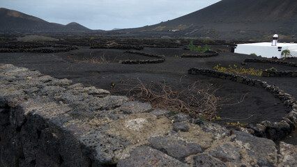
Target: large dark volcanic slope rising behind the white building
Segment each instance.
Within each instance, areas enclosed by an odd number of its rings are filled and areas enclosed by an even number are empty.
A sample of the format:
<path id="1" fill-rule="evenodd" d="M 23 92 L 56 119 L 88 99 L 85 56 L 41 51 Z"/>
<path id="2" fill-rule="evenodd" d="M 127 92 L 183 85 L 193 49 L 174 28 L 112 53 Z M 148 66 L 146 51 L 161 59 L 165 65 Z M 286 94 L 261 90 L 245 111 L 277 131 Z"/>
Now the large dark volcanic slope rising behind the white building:
<path id="1" fill-rule="evenodd" d="M 296 0 L 222 0 L 194 13 L 130 31 L 212 38 L 259 38 L 271 33 L 297 35 Z M 172 32 L 173 33 L 173 32 Z"/>

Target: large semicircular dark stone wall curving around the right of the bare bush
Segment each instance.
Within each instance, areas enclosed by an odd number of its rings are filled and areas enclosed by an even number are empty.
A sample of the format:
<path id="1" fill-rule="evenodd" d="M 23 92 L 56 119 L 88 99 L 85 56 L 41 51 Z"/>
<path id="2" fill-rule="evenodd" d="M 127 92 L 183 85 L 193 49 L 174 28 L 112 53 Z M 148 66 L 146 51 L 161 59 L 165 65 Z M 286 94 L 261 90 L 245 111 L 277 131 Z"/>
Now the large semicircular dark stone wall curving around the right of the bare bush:
<path id="1" fill-rule="evenodd" d="M 272 93 L 275 97 L 278 97 L 285 106 L 289 108 L 289 113 L 284 116 L 283 120 L 280 122 L 269 122 L 264 120 L 256 127 L 249 125 L 248 129 L 242 128 L 243 131 L 249 132 L 260 137 L 271 138 L 273 140 L 279 140 L 284 138 L 292 132 L 292 130 L 297 128 L 297 102 L 294 97 L 284 93 L 277 86 L 271 86 L 266 83 L 266 81 L 260 81 L 258 79 L 250 79 L 248 77 L 243 77 L 238 74 L 230 74 L 227 72 L 218 72 L 215 70 L 208 69 L 197 69 L 195 67 L 188 70 L 189 74 L 203 74 L 208 77 L 215 77 L 220 79 L 228 79 L 230 81 L 236 81 L 240 84 L 246 84 L 249 86 L 256 86 L 258 88 L 264 88 L 268 92 Z"/>

